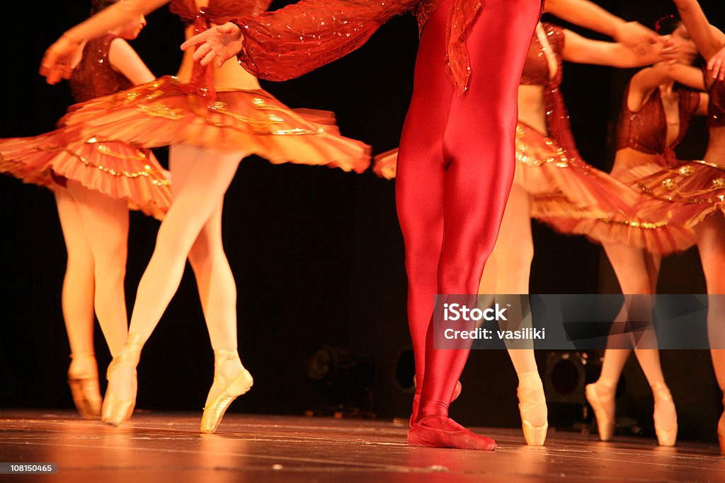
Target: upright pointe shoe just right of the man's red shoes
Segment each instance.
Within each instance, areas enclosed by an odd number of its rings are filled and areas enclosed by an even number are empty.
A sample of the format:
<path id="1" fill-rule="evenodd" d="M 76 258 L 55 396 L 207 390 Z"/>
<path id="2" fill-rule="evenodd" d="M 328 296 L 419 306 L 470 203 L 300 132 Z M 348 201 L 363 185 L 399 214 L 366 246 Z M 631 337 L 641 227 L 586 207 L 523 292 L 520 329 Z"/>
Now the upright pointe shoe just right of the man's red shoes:
<path id="1" fill-rule="evenodd" d="M 521 413 L 521 429 L 523 429 L 526 444 L 543 446 L 549 429 L 549 421 L 544 385 L 537 371 L 521 374 L 516 395 L 518 396 L 518 411 Z"/>

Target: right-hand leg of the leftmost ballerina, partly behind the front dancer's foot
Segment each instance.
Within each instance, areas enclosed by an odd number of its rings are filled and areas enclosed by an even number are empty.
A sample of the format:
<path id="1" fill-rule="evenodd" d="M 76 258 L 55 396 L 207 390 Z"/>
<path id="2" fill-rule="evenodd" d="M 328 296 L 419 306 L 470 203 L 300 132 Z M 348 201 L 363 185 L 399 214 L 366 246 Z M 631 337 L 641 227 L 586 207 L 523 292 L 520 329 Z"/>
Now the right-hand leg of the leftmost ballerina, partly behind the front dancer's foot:
<path id="1" fill-rule="evenodd" d="M 88 190 L 72 180 L 68 181 L 68 190 L 75 198 L 93 253 L 96 316 L 111 355 L 116 356 L 123 349 L 128 331 L 123 287 L 128 253 L 128 203 Z"/>

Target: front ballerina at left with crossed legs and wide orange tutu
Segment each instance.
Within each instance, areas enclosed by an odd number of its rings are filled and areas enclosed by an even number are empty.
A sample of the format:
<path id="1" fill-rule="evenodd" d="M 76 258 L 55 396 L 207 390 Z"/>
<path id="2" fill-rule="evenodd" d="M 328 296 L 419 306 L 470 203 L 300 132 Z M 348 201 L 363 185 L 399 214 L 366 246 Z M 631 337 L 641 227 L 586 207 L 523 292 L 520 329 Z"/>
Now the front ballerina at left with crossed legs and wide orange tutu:
<path id="1" fill-rule="evenodd" d="M 99 12 L 46 51 L 41 74 L 49 83 L 67 77 L 80 43 L 167 3 L 126 0 Z M 260 14 L 269 3 L 173 0 L 170 9 L 186 23 L 189 36 L 223 24 L 233 13 Z M 191 54 L 184 57 L 178 77 L 161 77 L 80 104 L 64 120 L 83 132 L 145 147 L 172 145 L 174 202 L 138 285 L 125 346 L 109 366 L 101 419 L 118 425 L 133 413 L 141 348 L 177 290 L 188 256 L 204 260 L 207 267 L 195 275 L 215 353 L 215 375 L 201 430 L 215 432 L 231 402 L 253 382 L 237 352 L 236 287 L 221 240 L 223 196 L 239 162 L 257 154 L 273 163 L 328 164 L 362 171 L 369 162 L 368 146 L 287 108 L 262 91 L 257 79 L 239 65 L 202 67 L 191 62 Z"/>

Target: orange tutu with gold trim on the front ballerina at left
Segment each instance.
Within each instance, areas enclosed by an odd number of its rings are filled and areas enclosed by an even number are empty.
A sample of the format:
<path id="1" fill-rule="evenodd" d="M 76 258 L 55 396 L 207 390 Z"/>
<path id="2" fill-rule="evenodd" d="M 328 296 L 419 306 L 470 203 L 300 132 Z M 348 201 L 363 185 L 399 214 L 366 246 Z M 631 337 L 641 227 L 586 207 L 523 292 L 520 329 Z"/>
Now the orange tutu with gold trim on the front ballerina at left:
<path id="1" fill-rule="evenodd" d="M 188 144 L 256 154 L 274 164 L 327 164 L 355 172 L 370 164 L 370 147 L 340 136 L 334 114 L 294 111 L 262 90 L 220 90 L 210 101 L 190 84 L 161 77 L 71 109 L 65 125 L 146 148 Z"/>

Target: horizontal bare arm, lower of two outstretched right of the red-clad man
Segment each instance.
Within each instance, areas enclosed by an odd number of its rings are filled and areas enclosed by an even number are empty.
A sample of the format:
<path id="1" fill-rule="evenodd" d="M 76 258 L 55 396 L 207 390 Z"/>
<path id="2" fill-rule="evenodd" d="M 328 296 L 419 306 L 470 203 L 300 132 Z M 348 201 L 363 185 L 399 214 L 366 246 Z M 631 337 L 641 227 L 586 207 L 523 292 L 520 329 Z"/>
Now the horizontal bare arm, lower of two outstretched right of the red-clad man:
<path id="1" fill-rule="evenodd" d="M 578 64 L 608 65 L 610 67 L 642 67 L 671 59 L 676 53 L 673 43 L 663 43 L 647 55 L 638 55 L 624 43 L 593 41 L 571 30 L 564 30 L 564 60 Z"/>

